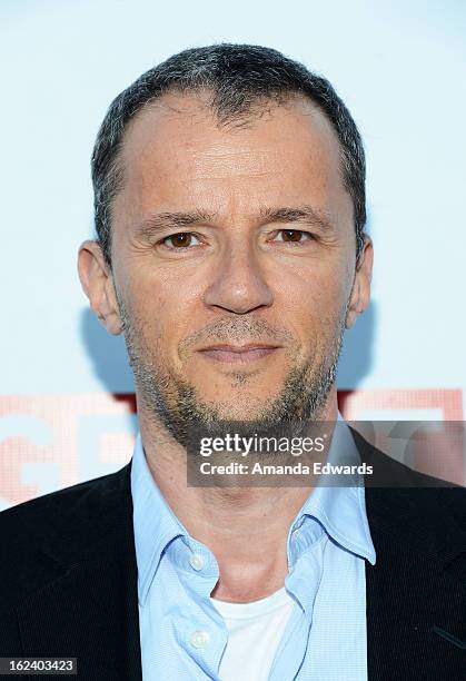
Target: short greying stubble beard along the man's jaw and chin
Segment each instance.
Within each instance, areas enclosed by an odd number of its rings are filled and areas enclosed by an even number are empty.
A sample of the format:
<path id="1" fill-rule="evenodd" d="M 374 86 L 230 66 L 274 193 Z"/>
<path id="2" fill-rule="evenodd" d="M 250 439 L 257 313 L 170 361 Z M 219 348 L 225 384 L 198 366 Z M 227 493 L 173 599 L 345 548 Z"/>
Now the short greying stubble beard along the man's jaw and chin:
<path id="1" fill-rule="evenodd" d="M 259 428 L 266 432 L 279 426 L 282 434 L 296 436 L 305 432 L 306 424 L 321 418 L 337 375 L 347 306 L 338 316 L 334 335 L 319 365 L 315 366 L 310 357 L 294 366 L 275 398 L 256 411 L 242 401 L 239 414 L 234 401 L 208 404 L 199 397 L 192 384 L 163 372 L 161 365 L 155 362 L 153 348 L 151 352 L 146 343 L 141 324 L 131 322 L 121 296 L 117 295 L 117 298 L 138 399 L 182 447 L 187 446 L 195 430 L 215 436 L 227 428 L 247 436 Z M 240 373 L 237 378 L 240 384 Z M 245 414 L 254 414 L 254 418 L 244 418 Z"/>

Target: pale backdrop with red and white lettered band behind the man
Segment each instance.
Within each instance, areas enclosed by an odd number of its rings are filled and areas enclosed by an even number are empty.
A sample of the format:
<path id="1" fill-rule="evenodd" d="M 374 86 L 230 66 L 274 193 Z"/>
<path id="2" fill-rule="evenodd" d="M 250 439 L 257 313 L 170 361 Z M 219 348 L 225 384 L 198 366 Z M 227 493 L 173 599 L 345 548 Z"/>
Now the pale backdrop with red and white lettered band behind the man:
<path id="1" fill-rule="evenodd" d="M 340 408 L 353 420 L 463 420 L 463 0 L 2 0 L 0 23 L 0 509 L 131 456 L 123 339 L 88 310 L 76 267 L 93 235 L 89 159 L 116 95 L 187 47 L 265 45 L 333 82 L 365 140 L 375 244 Z M 464 456 L 452 461 L 443 475 L 464 481 Z"/>

